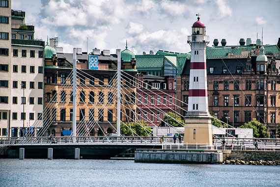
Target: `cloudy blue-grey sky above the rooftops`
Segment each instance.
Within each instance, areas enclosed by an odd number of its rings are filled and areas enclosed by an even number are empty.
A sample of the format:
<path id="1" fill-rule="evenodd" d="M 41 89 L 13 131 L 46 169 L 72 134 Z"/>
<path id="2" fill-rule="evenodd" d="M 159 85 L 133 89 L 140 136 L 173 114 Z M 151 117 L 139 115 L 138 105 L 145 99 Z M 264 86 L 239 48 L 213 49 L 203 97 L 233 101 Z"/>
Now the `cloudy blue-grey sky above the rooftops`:
<path id="1" fill-rule="evenodd" d="M 190 51 L 187 35 L 197 20 L 214 38 L 236 45 L 240 38 L 276 44 L 280 37 L 280 0 L 12 0 L 12 9 L 26 12 L 35 26 L 35 38 L 58 37 L 64 52 L 73 47 L 128 48 L 143 51 Z"/>

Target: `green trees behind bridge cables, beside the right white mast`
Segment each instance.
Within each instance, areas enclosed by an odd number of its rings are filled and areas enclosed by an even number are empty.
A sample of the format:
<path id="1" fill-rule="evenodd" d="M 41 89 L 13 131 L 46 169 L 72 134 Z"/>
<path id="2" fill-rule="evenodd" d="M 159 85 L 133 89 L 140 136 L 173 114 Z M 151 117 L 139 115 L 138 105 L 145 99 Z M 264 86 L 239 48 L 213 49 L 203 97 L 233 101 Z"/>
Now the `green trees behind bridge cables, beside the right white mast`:
<path id="1" fill-rule="evenodd" d="M 121 122 L 120 123 L 120 133 L 124 136 L 134 136 L 138 134 L 139 136 L 149 136 L 152 133 L 152 130 L 147 123 L 140 122 Z"/>

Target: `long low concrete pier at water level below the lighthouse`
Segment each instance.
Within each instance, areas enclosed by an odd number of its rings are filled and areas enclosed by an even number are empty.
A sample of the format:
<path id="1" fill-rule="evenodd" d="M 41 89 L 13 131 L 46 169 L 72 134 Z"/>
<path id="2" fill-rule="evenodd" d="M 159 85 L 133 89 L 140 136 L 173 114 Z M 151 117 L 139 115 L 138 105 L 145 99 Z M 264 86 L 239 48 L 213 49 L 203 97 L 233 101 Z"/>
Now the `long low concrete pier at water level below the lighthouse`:
<path id="1" fill-rule="evenodd" d="M 223 162 L 223 153 L 209 150 L 137 150 L 135 162 L 220 163 Z"/>

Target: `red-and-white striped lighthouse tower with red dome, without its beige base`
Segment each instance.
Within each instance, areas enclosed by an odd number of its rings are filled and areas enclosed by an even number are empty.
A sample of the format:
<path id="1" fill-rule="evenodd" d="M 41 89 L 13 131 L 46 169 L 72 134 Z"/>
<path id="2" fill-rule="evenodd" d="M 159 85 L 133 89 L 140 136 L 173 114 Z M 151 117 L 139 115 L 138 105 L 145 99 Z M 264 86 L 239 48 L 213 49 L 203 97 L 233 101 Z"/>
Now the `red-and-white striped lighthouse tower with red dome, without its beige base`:
<path id="1" fill-rule="evenodd" d="M 192 51 L 188 116 L 192 115 L 191 113 L 209 115 L 206 74 L 206 46 L 209 43 L 209 36 L 206 35 L 206 27 L 199 19 L 197 17 L 192 27 L 192 35 L 188 36 Z"/>

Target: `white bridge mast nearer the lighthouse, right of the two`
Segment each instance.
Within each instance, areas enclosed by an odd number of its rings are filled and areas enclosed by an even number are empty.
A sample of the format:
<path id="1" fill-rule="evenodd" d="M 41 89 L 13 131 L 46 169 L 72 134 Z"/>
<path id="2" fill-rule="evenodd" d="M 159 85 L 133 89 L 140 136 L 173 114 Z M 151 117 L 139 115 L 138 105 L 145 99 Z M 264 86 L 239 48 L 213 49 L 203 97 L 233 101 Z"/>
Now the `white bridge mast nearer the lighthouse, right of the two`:
<path id="1" fill-rule="evenodd" d="M 120 136 L 120 86 L 121 86 L 121 59 L 120 59 L 120 49 L 116 50 L 117 55 L 117 136 Z"/>

